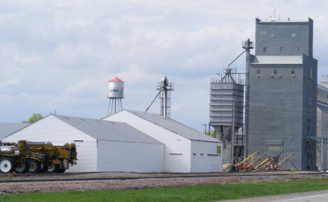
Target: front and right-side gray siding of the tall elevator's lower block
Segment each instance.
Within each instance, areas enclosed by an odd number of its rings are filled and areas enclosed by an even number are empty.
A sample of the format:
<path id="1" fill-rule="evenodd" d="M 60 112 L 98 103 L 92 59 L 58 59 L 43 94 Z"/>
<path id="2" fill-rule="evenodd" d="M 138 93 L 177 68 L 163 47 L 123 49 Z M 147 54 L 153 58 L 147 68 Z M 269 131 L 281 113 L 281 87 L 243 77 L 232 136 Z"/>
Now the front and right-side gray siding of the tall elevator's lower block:
<path id="1" fill-rule="evenodd" d="M 295 153 L 288 161 L 292 170 L 315 168 L 315 145 L 310 145 L 314 157 L 308 161 L 306 137 L 315 136 L 317 63 L 308 56 L 304 58 L 303 65 L 261 64 L 250 68 L 248 154 L 268 152 L 266 140 L 282 140 L 280 158 Z M 257 69 L 261 69 L 259 74 Z"/>

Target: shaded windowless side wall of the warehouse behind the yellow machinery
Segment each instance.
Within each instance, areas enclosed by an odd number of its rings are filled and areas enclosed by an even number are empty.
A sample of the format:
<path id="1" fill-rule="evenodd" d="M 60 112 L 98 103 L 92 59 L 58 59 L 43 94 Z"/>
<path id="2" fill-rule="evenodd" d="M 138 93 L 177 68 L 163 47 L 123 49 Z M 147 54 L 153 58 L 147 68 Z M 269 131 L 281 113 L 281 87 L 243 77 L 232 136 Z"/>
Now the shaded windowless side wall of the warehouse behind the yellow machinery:
<path id="1" fill-rule="evenodd" d="M 164 144 L 98 140 L 97 148 L 97 171 L 164 171 Z"/>

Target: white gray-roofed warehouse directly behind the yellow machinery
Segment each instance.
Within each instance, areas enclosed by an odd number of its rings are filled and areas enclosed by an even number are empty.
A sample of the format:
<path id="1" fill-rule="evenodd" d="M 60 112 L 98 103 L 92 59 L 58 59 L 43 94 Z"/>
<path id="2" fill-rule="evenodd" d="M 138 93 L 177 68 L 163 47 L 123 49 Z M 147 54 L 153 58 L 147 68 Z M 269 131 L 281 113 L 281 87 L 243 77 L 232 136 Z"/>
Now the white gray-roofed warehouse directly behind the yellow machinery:
<path id="1" fill-rule="evenodd" d="M 164 144 L 126 123 L 49 115 L 4 141 L 75 142 L 76 166 L 67 172 L 163 172 Z"/>

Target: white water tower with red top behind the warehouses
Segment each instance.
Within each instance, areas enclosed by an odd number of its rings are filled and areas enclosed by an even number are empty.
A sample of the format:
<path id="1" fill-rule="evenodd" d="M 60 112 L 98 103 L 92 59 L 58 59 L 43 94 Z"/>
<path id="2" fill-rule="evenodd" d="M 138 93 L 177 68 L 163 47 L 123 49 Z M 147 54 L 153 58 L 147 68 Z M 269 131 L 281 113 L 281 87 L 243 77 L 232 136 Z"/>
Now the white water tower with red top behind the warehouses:
<path id="1" fill-rule="evenodd" d="M 124 90 L 124 81 L 115 77 L 108 81 L 108 94 L 109 105 L 108 105 L 108 115 L 116 113 L 122 110 L 122 98 Z M 111 109 L 109 113 L 109 109 Z"/>

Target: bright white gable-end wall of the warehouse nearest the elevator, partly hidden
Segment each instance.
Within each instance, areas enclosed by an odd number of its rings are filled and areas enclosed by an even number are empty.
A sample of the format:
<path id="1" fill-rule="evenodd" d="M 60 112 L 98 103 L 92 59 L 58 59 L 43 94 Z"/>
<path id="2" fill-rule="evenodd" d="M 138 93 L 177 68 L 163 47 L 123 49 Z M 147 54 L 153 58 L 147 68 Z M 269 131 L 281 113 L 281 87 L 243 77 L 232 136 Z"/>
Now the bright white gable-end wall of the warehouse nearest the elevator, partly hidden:
<path id="1" fill-rule="evenodd" d="M 121 111 L 105 118 L 107 121 L 128 123 L 143 133 L 165 144 L 164 171 L 170 173 L 191 172 L 191 141 L 172 133 L 156 124 L 139 118 L 129 112 Z"/>

